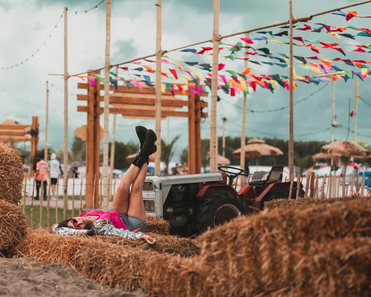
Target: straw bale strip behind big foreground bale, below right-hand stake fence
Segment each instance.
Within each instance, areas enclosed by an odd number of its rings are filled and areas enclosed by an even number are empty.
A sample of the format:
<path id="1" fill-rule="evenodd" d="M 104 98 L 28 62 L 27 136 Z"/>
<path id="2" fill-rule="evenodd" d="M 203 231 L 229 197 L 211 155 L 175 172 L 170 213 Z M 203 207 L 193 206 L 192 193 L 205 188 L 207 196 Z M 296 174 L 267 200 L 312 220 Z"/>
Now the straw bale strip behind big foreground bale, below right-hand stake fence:
<path id="1" fill-rule="evenodd" d="M 274 199 L 271 201 L 264 202 L 264 210 L 272 211 L 273 209 L 292 207 L 294 205 L 317 205 L 324 203 L 334 203 L 339 201 L 349 201 L 349 200 L 370 200 L 367 197 L 360 197 L 357 195 L 338 197 L 338 198 L 316 198 L 316 197 L 298 197 L 297 199 Z"/>

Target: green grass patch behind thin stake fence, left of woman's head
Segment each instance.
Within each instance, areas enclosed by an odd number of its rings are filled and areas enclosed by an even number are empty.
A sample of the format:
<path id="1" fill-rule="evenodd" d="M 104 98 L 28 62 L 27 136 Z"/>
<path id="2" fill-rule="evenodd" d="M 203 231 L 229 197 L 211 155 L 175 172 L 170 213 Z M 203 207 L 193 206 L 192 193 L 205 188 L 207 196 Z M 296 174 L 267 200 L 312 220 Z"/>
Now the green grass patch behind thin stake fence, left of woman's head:
<path id="1" fill-rule="evenodd" d="M 80 200 L 80 199 L 79 199 Z M 23 205 L 21 205 L 21 208 L 23 208 Z M 83 210 L 84 212 L 84 210 Z M 26 219 L 28 221 L 28 226 L 31 227 L 31 205 L 26 205 Z M 49 215 L 50 215 L 50 226 L 57 223 L 56 217 L 55 217 L 55 208 L 49 207 Z M 79 208 L 75 208 L 74 212 L 75 216 L 79 215 Z M 72 210 L 68 209 L 66 218 L 69 218 L 72 216 Z M 32 221 L 33 221 L 33 228 L 37 229 L 39 228 L 40 224 L 40 205 L 34 205 L 33 206 L 33 213 L 32 213 Z M 63 208 L 58 208 L 58 223 L 63 221 Z M 46 206 L 43 206 L 43 228 L 47 228 L 47 212 L 46 212 Z"/>

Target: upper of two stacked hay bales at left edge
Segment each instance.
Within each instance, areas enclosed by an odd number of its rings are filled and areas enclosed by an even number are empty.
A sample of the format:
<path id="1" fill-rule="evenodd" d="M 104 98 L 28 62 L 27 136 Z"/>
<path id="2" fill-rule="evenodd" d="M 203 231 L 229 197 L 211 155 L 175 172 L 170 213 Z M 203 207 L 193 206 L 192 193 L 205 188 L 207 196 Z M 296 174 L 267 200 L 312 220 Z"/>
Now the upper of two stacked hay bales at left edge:
<path id="1" fill-rule="evenodd" d="M 21 152 L 0 142 L 0 199 L 18 205 L 22 198 Z"/>

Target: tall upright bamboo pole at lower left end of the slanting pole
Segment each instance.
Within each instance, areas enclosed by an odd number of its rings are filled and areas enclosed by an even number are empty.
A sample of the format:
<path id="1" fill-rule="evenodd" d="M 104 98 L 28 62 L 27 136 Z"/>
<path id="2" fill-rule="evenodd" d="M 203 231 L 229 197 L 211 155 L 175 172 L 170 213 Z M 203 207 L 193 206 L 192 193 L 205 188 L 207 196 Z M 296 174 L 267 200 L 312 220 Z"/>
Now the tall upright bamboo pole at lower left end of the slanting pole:
<path id="1" fill-rule="evenodd" d="M 63 143 L 63 172 L 68 173 L 68 71 L 67 71 L 67 7 L 65 7 L 65 126 Z M 64 208 L 64 206 L 63 206 Z M 66 218 L 64 218 L 66 219 Z"/>

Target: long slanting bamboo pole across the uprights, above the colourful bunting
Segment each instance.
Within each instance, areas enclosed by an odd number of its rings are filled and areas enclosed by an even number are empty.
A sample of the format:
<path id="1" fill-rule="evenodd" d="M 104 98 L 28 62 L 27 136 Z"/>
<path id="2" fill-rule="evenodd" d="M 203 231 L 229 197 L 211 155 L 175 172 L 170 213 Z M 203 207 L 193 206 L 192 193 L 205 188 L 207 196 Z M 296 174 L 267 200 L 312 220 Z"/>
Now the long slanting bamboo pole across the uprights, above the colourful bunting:
<path id="1" fill-rule="evenodd" d="M 349 7 L 354 7 L 354 6 L 358 6 L 358 5 L 362 5 L 362 4 L 366 4 L 366 3 L 370 3 L 370 2 L 371 2 L 371 0 L 367 0 L 367 1 L 359 2 L 359 3 L 354 3 L 354 4 L 349 4 L 349 5 L 346 5 L 346 6 L 338 7 L 338 8 L 335 8 L 335 9 L 326 10 L 324 12 L 319 12 L 319 13 L 311 14 L 309 16 L 295 17 L 295 21 L 296 22 L 306 22 L 308 20 L 311 20 L 315 16 L 320 16 L 320 15 L 323 15 L 323 14 L 326 14 L 326 13 L 336 12 L 337 10 L 346 9 L 346 8 L 349 8 Z M 258 30 L 263 30 L 263 29 L 267 29 L 267 28 L 271 28 L 271 27 L 287 25 L 289 22 L 290 22 L 289 20 L 286 20 L 286 21 L 282 21 L 282 22 L 277 22 L 277 23 L 273 23 L 273 24 L 259 26 L 259 27 L 255 27 L 255 28 L 252 28 L 252 29 L 240 31 L 240 32 L 237 32 L 237 33 L 232 33 L 232 34 L 221 36 L 221 39 L 226 38 L 226 37 L 235 36 L 235 35 L 242 35 L 242 34 L 246 34 L 246 33 L 249 33 L 249 32 L 258 31 Z M 193 43 L 193 44 L 190 44 L 190 45 L 181 46 L 180 48 L 166 50 L 165 52 L 167 52 L 167 53 L 168 52 L 174 52 L 175 50 L 183 49 L 183 48 L 190 47 L 190 46 L 199 45 L 201 43 L 212 42 L 212 41 L 213 41 L 213 39 L 204 40 L 204 41 Z M 116 66 L 120 66 L 122 64 L 127 64 L 127 63 L 131 63 L 131 62 L 135 62 L 135 61 L 138 61 L 138 60 L 141 60 L 141 59 L 151 58 L 151 57 L 153 57 L 155 55 L 156 54 L 152 54 L 152 55 L 147 55 L 147 56 L 143 56 L 143 57 L 140 57 L 140 58 L 131 59 L 129 61 L 125 61 L 125 62 L 121 62 L 121 63 L 118 63 L 118 64 L 114 64 L 114 65 L 112 65 L 112 67 L 116 67 Z M 99 68 L 99 69 L 95 69 L 95 70 L 91 70 L 89 72 L 95 72 L 95 71 L 99 71 L 99 70 L 102 70 L 102 69 L 104 69 L 104 67 Z M 77 73 L 77 74 L 74 74 L 74 75 L 81 75 L 81 74 L 85 74 L 85 73 L 86 72 L 81 72 L 81 73 Z M 50 74 L 50 75 L 60 75 L 60 74 Z"/>

